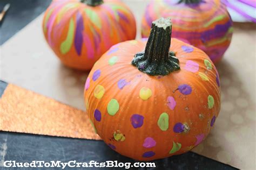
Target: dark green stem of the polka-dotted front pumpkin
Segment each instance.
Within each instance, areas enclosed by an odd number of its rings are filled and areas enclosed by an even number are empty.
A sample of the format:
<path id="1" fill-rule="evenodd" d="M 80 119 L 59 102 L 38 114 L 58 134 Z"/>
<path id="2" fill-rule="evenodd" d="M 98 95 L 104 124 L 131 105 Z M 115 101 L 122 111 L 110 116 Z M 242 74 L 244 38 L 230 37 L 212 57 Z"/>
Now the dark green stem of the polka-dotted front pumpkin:
<path id="1" fill-rule="evenodd" d="M 149 75 L 168 75 L 180 69 L 179 60 L 169 51 L 171 32 L 170 18 L 154 20 L 145 52 L 135 54 L 132 65 Z"/>

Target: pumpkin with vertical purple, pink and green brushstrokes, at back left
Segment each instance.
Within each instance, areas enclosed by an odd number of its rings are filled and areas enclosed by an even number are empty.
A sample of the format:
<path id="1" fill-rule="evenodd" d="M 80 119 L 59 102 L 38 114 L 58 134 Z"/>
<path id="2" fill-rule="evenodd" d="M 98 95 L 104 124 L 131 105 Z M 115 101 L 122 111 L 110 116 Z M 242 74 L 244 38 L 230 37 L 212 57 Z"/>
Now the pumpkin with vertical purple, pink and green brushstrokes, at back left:
<path id="1" fill-rule="evenodd" d="M 45 12 L 43 32 L 64 65 L 89 70 L 112 45 L 134 39 L 136 23 L 119 0 L 57 0 Z"/>

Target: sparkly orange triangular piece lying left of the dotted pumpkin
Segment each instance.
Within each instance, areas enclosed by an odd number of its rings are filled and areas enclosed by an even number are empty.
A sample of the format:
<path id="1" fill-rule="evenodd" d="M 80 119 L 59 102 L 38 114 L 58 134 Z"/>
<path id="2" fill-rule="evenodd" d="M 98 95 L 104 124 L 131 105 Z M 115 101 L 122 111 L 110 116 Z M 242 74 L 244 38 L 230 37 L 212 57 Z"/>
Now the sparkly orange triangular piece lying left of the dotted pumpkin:
<path id="1" fill-rule="evenodd" d="M 85 112 L 13 84 L 0 98 L 0 130 L 100 140 Z"/>

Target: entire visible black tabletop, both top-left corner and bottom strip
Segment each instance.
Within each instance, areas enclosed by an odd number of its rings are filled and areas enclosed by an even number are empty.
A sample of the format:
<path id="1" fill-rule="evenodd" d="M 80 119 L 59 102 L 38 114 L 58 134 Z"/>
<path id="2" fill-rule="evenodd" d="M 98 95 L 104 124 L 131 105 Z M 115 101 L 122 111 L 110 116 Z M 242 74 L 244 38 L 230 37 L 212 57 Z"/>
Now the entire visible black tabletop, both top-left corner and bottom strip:
<path id="1" fill-rule="evenodd" d="M 41 14 L 49 5 L 50 0 L 0 0 L 0 8 L 2 9 L 3 5 L 8 2 L 11 3 L 11 8 L 2 25 L 0 44 Z M 0 97 L 6 86 L 7 83 L 0 81 Z M 3 153 L 3 147 L 1 147 L 3 145 L 7 146 L 6 151 L 4 151 L 6 152 L 4 160 L 16 160 L 17 162 L 32 160 L 77 160 L 81 162 L 118 160 L 119 162 L 134 162 L 134 160 L 123 157 L 111 150 L 103 141 L 0 131 L 0 153 Z M 2 159 L 0 154 L 0 162 Z M 157 168 L 153 169 L 235 169 L 192 152 L 154 162 L 156 162 Z"/>

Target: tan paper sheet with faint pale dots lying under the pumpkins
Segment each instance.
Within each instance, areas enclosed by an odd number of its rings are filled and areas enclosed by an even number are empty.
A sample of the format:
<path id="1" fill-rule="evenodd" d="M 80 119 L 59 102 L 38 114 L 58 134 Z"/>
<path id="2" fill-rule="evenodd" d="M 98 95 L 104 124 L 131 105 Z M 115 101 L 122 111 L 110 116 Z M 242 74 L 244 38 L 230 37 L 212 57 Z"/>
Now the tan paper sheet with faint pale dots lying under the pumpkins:
<path id="1" fill-rule="evenodd" d="M 139 3 L 129 4 L 137 27 L 146 4 Z M 42 15 L 2 46 L 0 79 L 84 110 L 88 73 L 59 62 L 44 40 L 41 24 Z M 255 168 L 256 31 L 250 27 L 234 28 L 231 46 L 217 65 L 222 91 L 219 117 L 208 138 L 193 150 L 242 169 Z"/>

